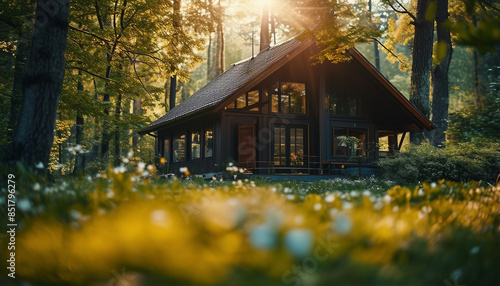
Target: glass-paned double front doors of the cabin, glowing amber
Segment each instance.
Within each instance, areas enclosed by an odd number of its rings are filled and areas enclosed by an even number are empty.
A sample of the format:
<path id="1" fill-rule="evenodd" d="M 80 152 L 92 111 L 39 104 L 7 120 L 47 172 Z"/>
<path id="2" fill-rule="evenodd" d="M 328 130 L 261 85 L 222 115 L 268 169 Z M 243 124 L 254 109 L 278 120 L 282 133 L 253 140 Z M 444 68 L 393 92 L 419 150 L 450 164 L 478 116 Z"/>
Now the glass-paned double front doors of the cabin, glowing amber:
<path id="1" fill-rule="evenodd" d="M 307 126 L 273 126 L 272 145 L 276 173 L 307 173 Z"/>

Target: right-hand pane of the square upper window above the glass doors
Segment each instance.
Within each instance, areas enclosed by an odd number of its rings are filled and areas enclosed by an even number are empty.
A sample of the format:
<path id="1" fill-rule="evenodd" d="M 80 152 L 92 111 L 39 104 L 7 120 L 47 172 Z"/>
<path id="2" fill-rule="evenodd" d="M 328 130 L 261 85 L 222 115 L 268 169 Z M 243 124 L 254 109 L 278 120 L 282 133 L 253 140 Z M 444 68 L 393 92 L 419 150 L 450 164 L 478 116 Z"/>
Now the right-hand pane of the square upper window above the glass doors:
<path id="1" fill-rule="evenodd" d="M 304 83 L 282 83 L 281 96 L 282 99 L 286 97 L 286 100 L 282 100 L 282 103 L 286 104 L 286 110 L 282 109 L 282 113 L 306 114 L 306 85 Z"/>

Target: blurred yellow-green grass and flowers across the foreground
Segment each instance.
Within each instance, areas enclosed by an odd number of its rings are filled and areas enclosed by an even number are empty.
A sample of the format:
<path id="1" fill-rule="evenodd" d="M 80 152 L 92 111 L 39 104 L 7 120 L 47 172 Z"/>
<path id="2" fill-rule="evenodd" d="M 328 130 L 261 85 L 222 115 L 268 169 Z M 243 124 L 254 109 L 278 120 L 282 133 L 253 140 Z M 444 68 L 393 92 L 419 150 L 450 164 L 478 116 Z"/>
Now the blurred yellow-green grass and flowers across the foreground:
<path id="1" fill-rule="evenodd" d="M 499 185 L 123 169 L 18 184 L 16 278 L 2 267 L 2 285 L 500 285 Z"/>

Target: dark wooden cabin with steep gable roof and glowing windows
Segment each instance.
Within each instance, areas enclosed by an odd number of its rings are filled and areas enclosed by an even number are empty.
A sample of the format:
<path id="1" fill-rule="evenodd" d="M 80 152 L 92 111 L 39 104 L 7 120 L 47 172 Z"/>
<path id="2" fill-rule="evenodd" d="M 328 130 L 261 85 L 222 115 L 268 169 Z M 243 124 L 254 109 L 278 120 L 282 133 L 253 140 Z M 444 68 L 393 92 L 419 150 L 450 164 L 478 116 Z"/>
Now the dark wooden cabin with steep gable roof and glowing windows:
<path id="1" fill-rule="evenodd" d="M 296 38 L 267 48 L 140 134 L 156 137 L 174 172 L 220 172 L 233 161 L 254 174 L 331 174 L 370 166 L 406 132 L 434 128 L 356 49 L 348 62 L 312 65 L 317 51 Z"/>

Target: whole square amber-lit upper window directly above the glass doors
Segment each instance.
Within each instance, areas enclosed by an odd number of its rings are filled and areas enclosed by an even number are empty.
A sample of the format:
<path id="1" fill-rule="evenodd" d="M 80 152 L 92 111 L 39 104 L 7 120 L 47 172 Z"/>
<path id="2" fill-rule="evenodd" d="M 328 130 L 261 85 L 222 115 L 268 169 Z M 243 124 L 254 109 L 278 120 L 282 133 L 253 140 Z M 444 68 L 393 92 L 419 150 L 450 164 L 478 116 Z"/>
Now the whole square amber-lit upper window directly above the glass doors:
<path id="1" fill-rule="evenodd" d="M 306 114 L 306 85 L 279 82 L 271 88 L 271 106 L 274 113 Z"/>

